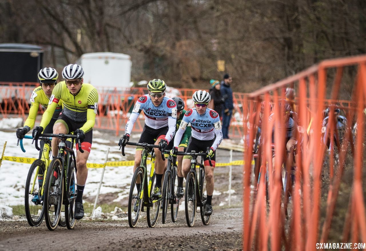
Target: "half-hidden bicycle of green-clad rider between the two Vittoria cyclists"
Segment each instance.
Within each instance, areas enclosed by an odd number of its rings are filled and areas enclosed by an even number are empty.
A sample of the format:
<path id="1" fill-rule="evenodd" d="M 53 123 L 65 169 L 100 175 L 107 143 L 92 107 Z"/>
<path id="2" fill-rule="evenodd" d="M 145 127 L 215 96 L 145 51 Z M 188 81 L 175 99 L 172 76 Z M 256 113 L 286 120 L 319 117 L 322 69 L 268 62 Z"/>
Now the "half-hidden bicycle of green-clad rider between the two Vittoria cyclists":
<path id="1" fill-rule="evenodd" d="M 163 193 L 162 193 L 162 200 L 163 200 L 163 212 L 162 212 L 162 221 L 163 224 L 167 221 L 167 214 L 168 214 L 168 205 L 170 204 L 171 208 L 171 216 L 172 222 L 177 221 L 178 217 L 178 209 L 179 209 L 179 202 L 180 199 L 175 192 L 178 187 L 178 178 L 177 178 L 177 156 L 169 155 L 168 156 L 168 166 L 167 170 L 164 174 L 164 185 L 163 185 Z"/>

